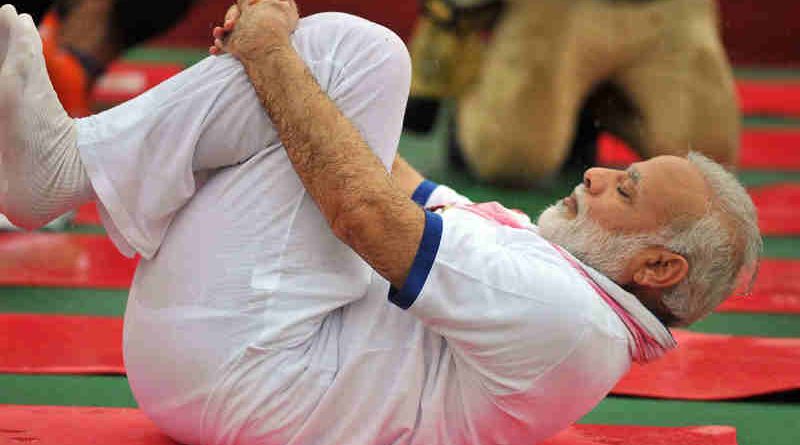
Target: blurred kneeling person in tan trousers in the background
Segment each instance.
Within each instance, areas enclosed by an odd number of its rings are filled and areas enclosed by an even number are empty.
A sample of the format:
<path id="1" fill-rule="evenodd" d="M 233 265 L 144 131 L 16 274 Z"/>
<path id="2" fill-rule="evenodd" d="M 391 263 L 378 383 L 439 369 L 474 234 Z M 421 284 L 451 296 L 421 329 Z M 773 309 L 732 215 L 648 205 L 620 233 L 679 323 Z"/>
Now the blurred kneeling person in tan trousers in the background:
<path id="1" fill-rule="evenodd" d="M 605 130 L 645 158 L 696 150 L 727 166 L 740 114 L 714 0 L 423 0 L 406 128 L 454 99 L 450 157 L 529 185 Z M 577 130 L 576 130 L 577 129 Z"/>

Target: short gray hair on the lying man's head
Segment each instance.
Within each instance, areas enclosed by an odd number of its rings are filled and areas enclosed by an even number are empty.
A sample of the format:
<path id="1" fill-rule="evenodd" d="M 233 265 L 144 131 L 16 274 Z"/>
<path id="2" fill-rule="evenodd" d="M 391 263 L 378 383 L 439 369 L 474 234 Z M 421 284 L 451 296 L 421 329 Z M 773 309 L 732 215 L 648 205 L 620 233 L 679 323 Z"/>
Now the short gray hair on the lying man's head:
<path id="1" fill-rule="evenodd" d="M 689 263 L 687 276 L 662 299 L 683 326 L 713 311 L 740 278 L 747 280 L 749 290 L 763 248 L 755 206 L 736 177 L 699 153 L 686 158 L 703 175 L 711 199 L 700 219 L 677 218 L 665 227 L 665 247 Z"/>

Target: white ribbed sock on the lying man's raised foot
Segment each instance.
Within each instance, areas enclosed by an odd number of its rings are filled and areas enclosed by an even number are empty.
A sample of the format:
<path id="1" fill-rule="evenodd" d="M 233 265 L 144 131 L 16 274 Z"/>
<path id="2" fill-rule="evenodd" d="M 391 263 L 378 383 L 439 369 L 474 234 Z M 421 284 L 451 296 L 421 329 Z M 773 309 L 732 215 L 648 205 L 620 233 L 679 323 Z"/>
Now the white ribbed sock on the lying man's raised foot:
<path id="1" fill-rule="evenodd" d="M 94 193 L 76 146 L 75 123 L 47 75 L 36 25 L 5 5 L 0 39 L 6 35 L 0 67 L 0 212 L 33 229 Z"/>

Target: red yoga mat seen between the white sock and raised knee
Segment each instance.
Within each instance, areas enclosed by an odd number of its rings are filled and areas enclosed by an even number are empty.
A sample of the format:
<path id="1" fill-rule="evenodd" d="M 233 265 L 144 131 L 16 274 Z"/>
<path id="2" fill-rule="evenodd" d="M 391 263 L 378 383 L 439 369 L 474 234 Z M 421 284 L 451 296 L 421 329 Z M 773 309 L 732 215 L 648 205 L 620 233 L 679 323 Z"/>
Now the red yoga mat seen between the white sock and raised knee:
<path id="1" fill-rule="evenodd" d="M 178 74 L 183 68 L 171 63 L 114 62 L 98 79 L 91 101 L 106 105 L 124 102 Z"/>

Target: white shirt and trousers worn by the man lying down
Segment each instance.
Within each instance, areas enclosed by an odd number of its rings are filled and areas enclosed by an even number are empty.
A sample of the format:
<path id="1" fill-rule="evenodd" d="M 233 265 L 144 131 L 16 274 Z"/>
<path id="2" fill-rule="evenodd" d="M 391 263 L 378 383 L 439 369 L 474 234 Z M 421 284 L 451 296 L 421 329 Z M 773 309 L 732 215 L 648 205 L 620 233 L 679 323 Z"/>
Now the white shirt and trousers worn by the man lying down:
<path id="1" fill-rule="evenodd" d="M 388 168 L 409 86 L 402 42 L 343 14 L 303 19 L 293 42 Z M 125 314 L 131 388 L 179 442 L 532 444 L 628 369 L 625 326 L 549 243 L 469 212 L 427 214 L 392 292 L 409 309 L 390 304 L 230 57 L 78 133 L 107 229 L 144 257 Z M 426 186 L 421 202 L 452 199 Z"/>

